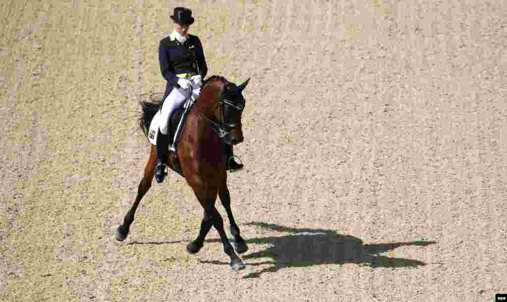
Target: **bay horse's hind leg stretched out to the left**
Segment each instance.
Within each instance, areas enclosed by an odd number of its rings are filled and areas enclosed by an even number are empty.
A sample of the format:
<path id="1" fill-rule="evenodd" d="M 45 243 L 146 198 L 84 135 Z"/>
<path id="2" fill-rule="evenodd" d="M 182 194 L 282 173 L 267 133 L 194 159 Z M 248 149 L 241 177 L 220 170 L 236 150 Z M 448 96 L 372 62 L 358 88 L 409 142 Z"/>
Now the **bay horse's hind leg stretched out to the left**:
<path id="1" fill-rule="evenodd" d="M 137 210 L 137 206 L 139 205 L 144 194 L 146 194 L 146 192 L 148 192 L 152 186 L 153 176 L 155 175 L 156 160 L 157 153 L 154 146 L 152 145 L 150 159 L 148 160 L 146 168 L 144 168 L 144 176 L 142 177 L 142 180 L 139 183 L 139 187 L 137 188 L 137 196 L 135 197 L 134 204 L 128 211 L 127 215 L 125 215 L 123 223 L 120 224 L 116 230 L 115 237 L 118 241 L 123 241 L 127 238 L 128 232 L 130 230 L 130 224 L 132 224 L 134 221 L 135 210 Z"/>

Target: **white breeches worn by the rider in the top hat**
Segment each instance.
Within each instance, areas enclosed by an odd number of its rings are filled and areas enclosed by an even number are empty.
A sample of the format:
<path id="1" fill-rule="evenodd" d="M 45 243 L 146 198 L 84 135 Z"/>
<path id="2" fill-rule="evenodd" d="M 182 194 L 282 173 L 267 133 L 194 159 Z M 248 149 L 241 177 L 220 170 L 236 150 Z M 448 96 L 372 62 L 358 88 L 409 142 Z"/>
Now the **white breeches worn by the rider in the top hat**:
<path id="1" fill-rule="evenodd" d="M 200 94 L 201 88 L 193 82 L 192 86 L 187 89 L 174 87 L 171 90 L 171 93 L 169 93 L 169 95 L 165 98 L 164 104 L 162 105 L 162 112 L 160 112 L 161 119 L 159 123 L 160 132 L 167 134 L 169 117 L 177 107 L 181 106 L 191 96 L 194 99 L 197 99 Z"/>

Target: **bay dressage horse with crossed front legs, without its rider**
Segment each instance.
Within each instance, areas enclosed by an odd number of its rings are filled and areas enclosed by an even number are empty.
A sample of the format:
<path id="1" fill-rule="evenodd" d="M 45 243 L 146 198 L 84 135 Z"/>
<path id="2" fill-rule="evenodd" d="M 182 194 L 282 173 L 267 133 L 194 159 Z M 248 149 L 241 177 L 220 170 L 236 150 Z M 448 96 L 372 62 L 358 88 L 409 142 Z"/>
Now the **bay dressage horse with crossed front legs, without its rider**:
<path id="1" fill-rule="evenodd" d="M 176 154 L 168 150 L 168 167 L 174 172 L 175 156 L 179 159 L 180 172 L 204 209 L 199 235 L 187 245 L 187 252 L 195 254 L 204 245 L 204 239 L 214 226 L 220 235 L 224 252 L 230 257 L 233 270 L 245 268 L 236 254 L 248 250 L 245 240 L 231 211 L 231 197 L 227 187 L 227 160 L 224 156 L 224 144 L 235 145 L 243 141 L 241 115 L 245 106 L 243 90 L 250 79 L 237 86 L 224 77 L 213 75 L 204 81 L 201 95 L 188 108 L 185 124 L 179 133 Z M 161 106 L 159 102 L 141 101 L 142 115 L 139 127 L 148 137 L 150 123 Z M 115 237 L 118 241 L 127 238 L 134 214 L 142 197 L 148 192 L 155 175 L 157 148 L 151 145 L 150 158 L 144 168 L 144 175 L 137 189 L 137 196 L 130 210 L 118 226 Z M 177 162 L 177 161 L 176 161 Z M 224 206 L 230 223 L 232 238 L 229 240 L 224 231 L 222 216 L 215 208 L 217 195 Z M 231 245 L 234 244 L 234 248 Z M 236 252 L 235 252 L 236 250 Z"/>

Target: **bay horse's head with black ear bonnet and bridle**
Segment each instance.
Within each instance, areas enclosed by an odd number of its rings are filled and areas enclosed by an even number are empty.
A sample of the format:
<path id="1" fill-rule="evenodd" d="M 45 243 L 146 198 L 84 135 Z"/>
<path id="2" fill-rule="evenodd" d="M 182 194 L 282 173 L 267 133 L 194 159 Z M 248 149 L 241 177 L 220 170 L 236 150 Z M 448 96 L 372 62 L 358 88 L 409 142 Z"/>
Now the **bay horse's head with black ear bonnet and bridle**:
<path id="1" fill-rule="evenodd" d="M 235 145 L 243 141 L 241 129 L 241 114 L 245 108 L 243 90 L 248 81 L 239 86 L 220 78 L 222 85 L 218 95 L 218 102 L 213 106 L 213 119 L 219 121 L 222 127 L 222 135 L 226 143 Z"/>

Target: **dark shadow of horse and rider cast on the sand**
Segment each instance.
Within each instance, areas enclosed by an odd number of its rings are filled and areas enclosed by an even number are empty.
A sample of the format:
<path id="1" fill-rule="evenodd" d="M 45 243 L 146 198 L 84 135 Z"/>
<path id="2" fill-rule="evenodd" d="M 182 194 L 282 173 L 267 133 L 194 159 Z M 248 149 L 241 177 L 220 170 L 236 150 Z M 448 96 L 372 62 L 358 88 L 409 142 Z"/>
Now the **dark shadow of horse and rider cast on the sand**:
<path id="1" fill-rule="evenodd" d="M 427 246 L 436 243 L 435 241 L 412 241 L 364 244 L 363 240 L 359 238 L 340 235 L 332 230 L 295 229 L 265 222 L 249 222 L 243 225 L 253 225 L 261 229 L 287 233 L 281 237 L 270 236 L 246 239 L 248 244 L 270 245 L 259 252 L 242 255 L 243 259 L 270 258 L 268 261 L 247 263 L 247 266 L 263 266 L 266 264 L 271 266 L 258 272 L 247 274 L 243 278 L 257 278 L 263 273 L 276 272 L 289 267 L 310 267 L 325 264 L 342 265 L 345 263 L 356 263 L 357 265 L 372 268 L 416 268 L 424 266 L 426 263 L 414 259 L 388 257 L 380 254 L 400 246 Z M 170 244 L 179 242 L 132 242 L 130 244 Z M 212 239 L 206 240 L 206 242 L 220 242 L 220 240 Z M 228 262 L 222 261 L 201 260 L 200 262 L 229 265 Z"/>

